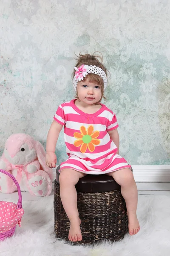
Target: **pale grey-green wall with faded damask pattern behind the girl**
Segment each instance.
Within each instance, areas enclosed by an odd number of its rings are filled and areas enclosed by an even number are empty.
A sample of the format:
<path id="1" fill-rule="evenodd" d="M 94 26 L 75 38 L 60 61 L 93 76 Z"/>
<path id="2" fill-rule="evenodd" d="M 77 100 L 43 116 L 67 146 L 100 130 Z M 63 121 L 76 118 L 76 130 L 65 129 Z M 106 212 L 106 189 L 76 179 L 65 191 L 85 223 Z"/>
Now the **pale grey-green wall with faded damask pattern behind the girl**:
<path id="1" fill-rule="evenodd" d="M 111 73 L 104 103 L 119 121 L 120 154 L 170 164 L 167 0 L 0 0 L 0 154 L 13 133 L 45 146 L 58 105 L 74 97 L 74 52 L 96 50 Z"/>

